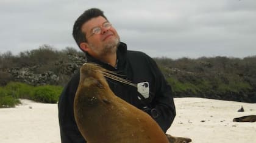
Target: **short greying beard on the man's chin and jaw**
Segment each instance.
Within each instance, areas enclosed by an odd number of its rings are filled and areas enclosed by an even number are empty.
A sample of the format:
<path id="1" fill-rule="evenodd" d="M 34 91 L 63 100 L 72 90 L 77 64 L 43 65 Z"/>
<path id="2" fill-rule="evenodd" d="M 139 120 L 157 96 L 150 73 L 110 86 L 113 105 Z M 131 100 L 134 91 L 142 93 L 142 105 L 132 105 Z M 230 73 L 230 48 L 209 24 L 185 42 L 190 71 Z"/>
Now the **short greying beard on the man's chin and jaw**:
<path id="1" fill-rule="evenodd" d="M 108 41 L 106 44 L 104 44 L 104 48 L 102 48 L 101 51 L 99 51 L 99 48 L 97 46 L 94 46 L 93 44 L 89 44 L 89 47 L 91 48 L 91 50 L 93 50 L 94 53 L 97 53 L 97 55 L 106 56 L 116 53 L 119 43 L 120 39 L 118 36 L 117 38 L 115 38 L 114 41 Z"/>

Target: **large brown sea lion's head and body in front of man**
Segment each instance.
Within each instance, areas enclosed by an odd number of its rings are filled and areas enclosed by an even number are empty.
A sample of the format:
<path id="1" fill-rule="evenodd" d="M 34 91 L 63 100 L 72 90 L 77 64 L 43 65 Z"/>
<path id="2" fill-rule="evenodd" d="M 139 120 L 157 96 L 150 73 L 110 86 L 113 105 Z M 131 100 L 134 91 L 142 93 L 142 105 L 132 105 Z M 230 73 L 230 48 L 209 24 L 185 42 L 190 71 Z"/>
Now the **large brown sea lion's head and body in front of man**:
<path id="1" fill-rule="evenodd" d="M 88 143 L 168 143 L 157 122 L 147 113 L 118 98 L 94 64 L 80 68 L 74 98 L 74 117 Z"/>

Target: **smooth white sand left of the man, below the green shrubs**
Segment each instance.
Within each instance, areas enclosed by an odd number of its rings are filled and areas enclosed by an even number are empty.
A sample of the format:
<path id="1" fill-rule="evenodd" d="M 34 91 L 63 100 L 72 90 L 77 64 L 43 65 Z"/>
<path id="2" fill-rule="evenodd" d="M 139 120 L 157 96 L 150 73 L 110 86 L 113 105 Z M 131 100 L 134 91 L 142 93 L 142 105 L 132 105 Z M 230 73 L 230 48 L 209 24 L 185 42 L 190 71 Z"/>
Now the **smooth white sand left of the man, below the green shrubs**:
<path id="1" fill-rule="evenodd" d="M 57 104 L 21 101 L 15 108 L 0 108 L 0 142 L 60 142 Z"/>

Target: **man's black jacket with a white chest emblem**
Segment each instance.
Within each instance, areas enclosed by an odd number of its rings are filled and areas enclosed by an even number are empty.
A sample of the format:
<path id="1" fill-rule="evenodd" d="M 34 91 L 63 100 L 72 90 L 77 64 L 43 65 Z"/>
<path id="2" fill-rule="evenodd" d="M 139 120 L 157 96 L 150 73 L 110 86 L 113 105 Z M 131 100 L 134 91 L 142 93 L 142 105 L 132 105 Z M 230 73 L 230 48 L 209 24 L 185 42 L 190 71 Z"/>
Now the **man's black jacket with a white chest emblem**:
<path id="1" fill-rule="evenodd" d="M 166 82 L 155 61 L 142 52 L 129 51 L 126 44 L 120 43 L 117 50 L 117 66 L 105 64 L 90 55 L 87 55 L 88 62 L 94 62 L 107 70 L 118 72 L 122 78 L 132 81 L 134 84 L 147 82 L 149 97 L 143 98 L 136 87 L 121 82 L 107 79 L 108 84 L 116 96 L 124 99 L 141 110 L 146 111 L 160 125 L 163 131 L 171 126 L 176 110 L 172 97 L 171 87 Z M 60 135 L 63 143 L 85 142 L 77 128 L 73 101 L 79 84 L 79 73 L 76 73 L 68 82 L 59 99 L 59 124 Z"/>

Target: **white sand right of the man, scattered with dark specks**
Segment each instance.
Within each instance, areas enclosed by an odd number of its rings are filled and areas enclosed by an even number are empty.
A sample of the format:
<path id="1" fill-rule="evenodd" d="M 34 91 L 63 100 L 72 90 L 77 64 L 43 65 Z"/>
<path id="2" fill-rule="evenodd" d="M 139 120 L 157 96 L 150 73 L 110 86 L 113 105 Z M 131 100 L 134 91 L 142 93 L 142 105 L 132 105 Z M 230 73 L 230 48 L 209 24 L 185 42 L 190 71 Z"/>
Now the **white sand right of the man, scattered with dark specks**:
<path id="1" fill-rule="evenodd" d="M 256 122 L 233 118 L 256 115 L 256 104 L 202 98 L 175 98 L 177 116 L 167 131 L 193 142 L 256 142 Z M 237 112 L 241 105 L 244 112 Z M 203 122 L 204 121 L 204 122 Z"/>

